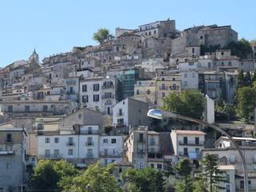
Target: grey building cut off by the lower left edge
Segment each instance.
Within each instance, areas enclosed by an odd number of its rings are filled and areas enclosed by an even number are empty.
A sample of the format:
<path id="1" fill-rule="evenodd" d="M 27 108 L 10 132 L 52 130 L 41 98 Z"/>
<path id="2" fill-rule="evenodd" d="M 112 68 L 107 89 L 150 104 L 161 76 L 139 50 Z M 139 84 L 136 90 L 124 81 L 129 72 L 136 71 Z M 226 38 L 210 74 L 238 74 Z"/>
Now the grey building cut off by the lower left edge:
<path id="1" fill-rule="evenodd" d="M 10 123 L 0 125 L 0 191 L 25 190 L 26 132 Z"/>

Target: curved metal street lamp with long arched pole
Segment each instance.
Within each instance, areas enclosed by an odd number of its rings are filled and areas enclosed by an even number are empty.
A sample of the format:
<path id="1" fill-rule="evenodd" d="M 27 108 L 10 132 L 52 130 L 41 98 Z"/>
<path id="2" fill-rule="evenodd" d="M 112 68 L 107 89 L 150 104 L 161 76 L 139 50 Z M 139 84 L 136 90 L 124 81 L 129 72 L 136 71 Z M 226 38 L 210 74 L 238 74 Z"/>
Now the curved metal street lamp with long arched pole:
<path id="1" fill-rule="evenodd" d="M 186 120 L 189 122 L 195 122 L 198 124 L 201 124 L 203 126 L 209 126 L 210 128 L 213 128 L 214 130 L 217 130 L 218 132 L 224 134 L 227 138 L 230 139 L 230 142 L 234 145 L 234 147 L 238 150 L 238 154 L 242 160 L 242 169 L 243 169 L 243 174 L 244 174 L 244 190 L 245 192 L 248 192 L 248 175 L 247 175 L 247 167 L 246 167 L 246 159 L 244 154 L 242 153 L 242 150 L 240 147 L 237 145 L 236 142 L 234 142 L 234 139 L 226 133 L 226 131 L 222 130 L 218 126 L 214 126 L 208 122 L 202 122 L 201 120 L 195 119 L 195 118 L 189 118 L 186 116 L 182 116 L 179 114 L 174 114 L 165 110 L 158 110 L 158 109 L 151 109 L 147 112 L 147 116 L 150 118 L 157 118 L 157 119 L 163 119 L 163 118 L 178 118 L 181 120 Z"/>

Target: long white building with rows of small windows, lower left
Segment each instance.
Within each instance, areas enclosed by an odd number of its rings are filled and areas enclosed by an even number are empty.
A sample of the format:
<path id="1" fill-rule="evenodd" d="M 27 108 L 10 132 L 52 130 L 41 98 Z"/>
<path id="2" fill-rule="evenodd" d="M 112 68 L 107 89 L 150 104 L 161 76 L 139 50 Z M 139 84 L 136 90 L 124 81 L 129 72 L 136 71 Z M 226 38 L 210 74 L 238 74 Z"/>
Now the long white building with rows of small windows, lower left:
<path id="1" fill-rule="evenodd" d="M 98 159 L 98 131 L 98 125 L 86 125 L 79 127 L 80 134 L 39 134 L 38 158 L 66 159 L 87 166 Z"/>

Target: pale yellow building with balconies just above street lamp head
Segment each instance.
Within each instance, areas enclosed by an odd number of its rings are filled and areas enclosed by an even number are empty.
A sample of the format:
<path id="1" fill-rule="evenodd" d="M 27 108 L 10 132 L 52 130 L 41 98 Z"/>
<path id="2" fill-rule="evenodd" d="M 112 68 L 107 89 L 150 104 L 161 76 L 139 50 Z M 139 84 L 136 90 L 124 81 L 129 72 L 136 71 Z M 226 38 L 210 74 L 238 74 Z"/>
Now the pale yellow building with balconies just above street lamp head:
<path id="1" fill-rule="evenodd" d="M 182 76 L 180 74 L 160 75 L 156 81 L 157 106 L 163 106 L 162 99 L 170 93 L 179 94 L 182 90 Z"/>

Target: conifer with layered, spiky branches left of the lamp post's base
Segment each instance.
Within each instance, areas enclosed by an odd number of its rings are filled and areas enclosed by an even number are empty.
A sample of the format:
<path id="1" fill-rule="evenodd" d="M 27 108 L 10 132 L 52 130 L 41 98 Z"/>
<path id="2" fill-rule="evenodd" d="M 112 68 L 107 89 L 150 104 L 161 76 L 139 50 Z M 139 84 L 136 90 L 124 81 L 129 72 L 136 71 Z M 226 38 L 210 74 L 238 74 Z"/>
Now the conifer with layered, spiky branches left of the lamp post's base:
<path id="1" fill-rule="evenodd" d="M 209 192 L 223 189 L 219 186 L 220 182 L 226 182 L 226 176 L 218 170 L 218 156 L 216 154 L 206 154 L 202 159 L 202 177 L 206 181 L 206 186 Z"/>

